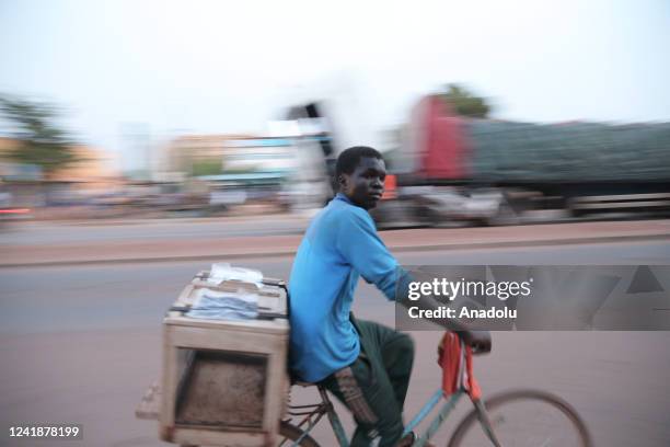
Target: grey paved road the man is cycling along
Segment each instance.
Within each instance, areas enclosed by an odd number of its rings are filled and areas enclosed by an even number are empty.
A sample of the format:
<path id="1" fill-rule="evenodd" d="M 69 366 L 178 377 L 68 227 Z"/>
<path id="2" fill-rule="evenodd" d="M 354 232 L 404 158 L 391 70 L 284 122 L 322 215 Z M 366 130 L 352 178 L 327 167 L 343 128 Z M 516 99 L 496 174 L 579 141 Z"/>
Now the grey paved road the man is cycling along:
<path id="1" fill-rule="evenodd" d="M 404 252 L 398 257 L 405 264 L 670 264 L 670 243 Z M 287 276 L 289 262 L 244 260 L 274 276 Z M 136 421 L 132 411 L 160 374 L 162 312 L 207 265 L 1 270 L 0 426 L 77 422 L 84 425 L 83 445 L 162 445 L 157 425 Z M 393 322 L 393 307 L 367 285 L 355 311 L 359 318 Z M 439 335 L 413 333 L 417 359 L 408 413 L 439 381 Z M 667 332 L 496 333 L 494 353 L 477 362 L 476 371 L 486 393 L 530 386 L 563 396 L 587 420 L 597 445 L 661 447 L 670 445 L 669 344 Z M 309 390 L 294 394 L 298 402 L 310 398 Z M 325 427 L 316 436 L 333 445 Z"/>

